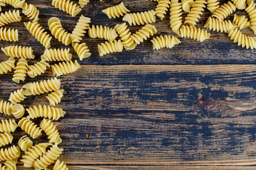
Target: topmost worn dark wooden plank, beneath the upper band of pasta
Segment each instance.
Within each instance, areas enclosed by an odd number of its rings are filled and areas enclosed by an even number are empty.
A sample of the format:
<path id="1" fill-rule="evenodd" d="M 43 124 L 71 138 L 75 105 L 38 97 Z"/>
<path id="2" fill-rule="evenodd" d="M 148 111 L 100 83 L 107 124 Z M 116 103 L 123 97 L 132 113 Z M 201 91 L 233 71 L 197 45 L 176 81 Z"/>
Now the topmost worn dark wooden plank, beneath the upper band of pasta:
<path id="1" fill-rule="evenodd" d="M 51 0 L 33 0 L 28 1 L 33 3 L 40 11 L 40 20 L 39 23 L 49 32 L 47 22 L 49 18 L 56 16 L 61 19 L 63 27 L 67 31 L 72 31 L 76 22 L 78 21 L 79 16 L 73 18 L 67 13 L 55 9 L 51 5 Z M 222 1 L 224 3 L 226 1 Z M 85 8 L 81 11 L 81 14 L 92 18 L 92 24 L 101 24 L 103 26 L 114 27 L 115 24 L 122 23 L 121 18 L 108 19 L 108 17 L 101 12 L 102 9 L 116 5 L 117 1 L 112 0 L 91 0 Z M 124 4 L 127 6 L 131 12 L 146 11 L 155 9 L 156 2 L 150 1 L 138 1 L 138 0 L 126 0 Z M 9 10 L 10 7 L 3 7 L 3 11 Z M 241 10 L 236 11 L 239 15 L 247 15 L 246 12 Z M 22 14 L 22 16 L 24 16 Z M 183 19 L 186 17 L 186 13 L 183 15 Z M 198 23 L 198 27 L 203 28 L 204 23 L 207 21 L 211 14 L 209 11 L 205 11 L 204 15 Z M 248 15 L 247 15 L 248 16 Z M 228 19 L 233 20 L 233 14 L 228 17 Z M 23 17 L 22 22 L 9 24 L 8 28 L 18 28 L 20 31 L 20 41 L 19 42 L 3 42 L 1 41 L 2 46 L 7 45 L 18 45 L 22 44 L 24 46 L 32 46 L 34 48 L 34 53 L 36 54 L 36 60 L 40 60 L 40 55 L 44 52 L 44 47 L 40 45 L 39 42 L 36 42 L 35 38 L 28 33 L 23 22 L 27 22 L 28 18 Z M 169 13 L 166 15 L 164 20 L 159 20 L 154 23 L 158 33 L 155 36 L 159 35 L 175 35 L 169 28 Z M 135 33 L 142 26 L 129 26 L 132 33 Z M 82 63 L 84 64 L 254 64 L 256 62 L 255 50 L 247 50 L 242 47 L 238 47 L 235 43 L 230 40 L 227 34 L 211 32 L 211 38 L 202 43 L 199 43 L 195 40 L 190 40 L 187 38 L 180 38 L 181 44 L 175 46 L 173 49 L 161 49 L 159 51 L 153 51 L 152 40 L 153 37 L 150 37 L 144 43 L 138 45 L 135 50 L 124 51 L 122 53 L 113 53 L 106 55 L 104 57 L 99 57 L 97 44 L 105 42 L 105 40 L 91 39 L 88 34 L 84 37 L 82 42 L 86 42 L 89 46 L 92 56 L 84 59 Z M 49 32 L 50 33 L 50 32 Z M 252 31 L 248 28 L 243 30 L 243 33 L 247 35 L 252 35 Z M 154 37 L 155 37 L 154 36 Z M 52 47 L 60 48 L 66 47 L 61 45 L 54 38 L 52 39 Z M 72 46 L 69 46 L 72 49 Z M 72 53 L 75 54 L 74 50 Z M 3 57 L 4 54 L 0 53 L 0 56 Z M 74 55 L 76 56 L 76 55 Z"/>

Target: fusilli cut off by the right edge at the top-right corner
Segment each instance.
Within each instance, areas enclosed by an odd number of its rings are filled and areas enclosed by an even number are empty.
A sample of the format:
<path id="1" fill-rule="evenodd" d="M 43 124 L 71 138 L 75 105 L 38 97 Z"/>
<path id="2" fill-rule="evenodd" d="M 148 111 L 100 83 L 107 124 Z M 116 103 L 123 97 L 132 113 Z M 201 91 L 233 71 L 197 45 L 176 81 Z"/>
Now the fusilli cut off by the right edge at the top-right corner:
<path id="1" fill-rule="evenodd" d="M 245 11 L 248 13 L 250 17 L 250 28 L 252 29 L 252 31 L 254 31 L 254 34 L 256 34 L 256 3 L 254 3 L 253 0 L 249 0 L 247 1 L 247 6 L 248 7 L 245 9 Z"/>

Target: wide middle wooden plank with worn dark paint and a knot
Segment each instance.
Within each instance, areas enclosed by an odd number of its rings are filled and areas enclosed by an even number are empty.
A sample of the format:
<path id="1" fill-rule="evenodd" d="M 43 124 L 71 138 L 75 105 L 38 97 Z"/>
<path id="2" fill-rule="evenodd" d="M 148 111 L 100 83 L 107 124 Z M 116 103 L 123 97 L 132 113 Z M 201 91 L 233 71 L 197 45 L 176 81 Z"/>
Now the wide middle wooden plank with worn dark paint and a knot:
<path id="1" fill-rule="evenodd" d="M 51 78 L 48 73 L 37 79 Z M 0 99 L 24 84 L 11 76 L 0 76 Z M 67 113 L 55 123 L 63 139 L 60 159 L 69 165 L 255 165 L 255 77 L 256 65 L 83 65 L 61 77 L 58 107 Z M 22 104 L 47 104 L 46 95 Z M 18 129 L 13 143 L 22 135 Z M 45 135 L 33 141 L 47 142 Z"/>

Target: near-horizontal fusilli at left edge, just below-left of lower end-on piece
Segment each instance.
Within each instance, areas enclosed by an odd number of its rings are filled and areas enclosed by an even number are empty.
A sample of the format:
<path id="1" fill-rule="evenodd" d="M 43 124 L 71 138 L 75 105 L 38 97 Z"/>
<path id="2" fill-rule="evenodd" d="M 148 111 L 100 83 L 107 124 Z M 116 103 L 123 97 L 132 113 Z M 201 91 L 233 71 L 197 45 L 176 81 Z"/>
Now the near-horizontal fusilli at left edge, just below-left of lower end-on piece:
<path id="1" fill-rule="evenodd" d="M 0 150 L 0 160 L 11 160 L 20 156 L 20 148 L 18 146 L 11 146 L 9 148 L 2 148 Z"/>

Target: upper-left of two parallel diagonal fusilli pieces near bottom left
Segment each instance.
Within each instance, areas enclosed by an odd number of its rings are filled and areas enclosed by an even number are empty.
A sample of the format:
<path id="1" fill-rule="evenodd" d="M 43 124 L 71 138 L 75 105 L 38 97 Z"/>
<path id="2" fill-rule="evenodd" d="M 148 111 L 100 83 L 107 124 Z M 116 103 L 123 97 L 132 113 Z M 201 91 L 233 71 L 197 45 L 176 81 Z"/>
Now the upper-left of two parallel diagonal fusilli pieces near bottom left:
<path id="1" fill-rule="evenodd" d="M 24 167 L 31 167 L 33 162 L 40 156 L 46 153 L 47 146 L 52 146 L 51 143 L 41 143 L 29 148 L 20 161 L 24 162 Z"/>

